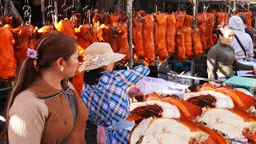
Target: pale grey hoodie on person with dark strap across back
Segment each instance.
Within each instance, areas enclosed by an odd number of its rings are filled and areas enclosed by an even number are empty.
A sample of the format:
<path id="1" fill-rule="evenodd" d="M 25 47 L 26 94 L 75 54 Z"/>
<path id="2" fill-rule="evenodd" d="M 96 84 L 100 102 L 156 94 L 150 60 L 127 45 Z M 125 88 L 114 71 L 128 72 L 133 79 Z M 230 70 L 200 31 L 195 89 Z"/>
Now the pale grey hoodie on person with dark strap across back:
<path id="1" fill-rule="evenodd" d="M 242 43 L 242 46 L 247 51 L 250 60 L 253 60 L 254 59 L 253 42 L 250 38 L 250 35 L 246 34 L 242 19 L 238 16 L 233 16 L 229 19 L 229 25 L 233 27 L 234 34 L 238 36 L 238 39 L 240 40 L 240 42 Z M 232 42 L 231 46 L 234 47 L 234 55 L 238 59 L 238 61 L 241 61 L 243 58 L 246 58 L 246 55 L 243 52 L 236 38 L 234 38 L 234 41 Z"/>

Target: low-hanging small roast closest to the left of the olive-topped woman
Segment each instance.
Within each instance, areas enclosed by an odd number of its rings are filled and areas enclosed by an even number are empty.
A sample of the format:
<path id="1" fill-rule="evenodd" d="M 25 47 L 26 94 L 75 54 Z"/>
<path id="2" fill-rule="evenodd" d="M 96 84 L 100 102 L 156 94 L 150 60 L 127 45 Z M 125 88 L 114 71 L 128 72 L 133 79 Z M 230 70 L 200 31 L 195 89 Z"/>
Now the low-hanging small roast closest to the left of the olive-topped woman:
<path id="1" fill-rule="evenodd" d="M 198 28 L 192 30 L 192 46 L 193 54 L 199 59 L 202 56 L 202 43 L 200 40 L 200 31 Z"/>

